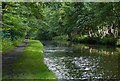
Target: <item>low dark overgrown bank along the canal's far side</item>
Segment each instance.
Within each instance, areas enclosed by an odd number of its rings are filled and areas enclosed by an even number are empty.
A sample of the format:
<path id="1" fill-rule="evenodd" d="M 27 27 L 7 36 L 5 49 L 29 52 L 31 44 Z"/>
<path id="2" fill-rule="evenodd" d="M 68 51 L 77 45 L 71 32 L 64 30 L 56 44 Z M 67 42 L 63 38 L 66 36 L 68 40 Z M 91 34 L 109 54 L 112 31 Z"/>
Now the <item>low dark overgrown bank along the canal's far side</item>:
<path id="1" fill-rule="evenodd" d="M 94 44 L 94 45 L 106 45 L 106 46 L 116 46 L 120 47 L 120 38 L 114 37 L 89 37 L 87 35 L 84 36 L 73 36 L 69 38 L 67 35 L 56 36 L 52 38 L 56 41 L 69 41 L 74 43 L 83 43 L 83 44 Z"/>

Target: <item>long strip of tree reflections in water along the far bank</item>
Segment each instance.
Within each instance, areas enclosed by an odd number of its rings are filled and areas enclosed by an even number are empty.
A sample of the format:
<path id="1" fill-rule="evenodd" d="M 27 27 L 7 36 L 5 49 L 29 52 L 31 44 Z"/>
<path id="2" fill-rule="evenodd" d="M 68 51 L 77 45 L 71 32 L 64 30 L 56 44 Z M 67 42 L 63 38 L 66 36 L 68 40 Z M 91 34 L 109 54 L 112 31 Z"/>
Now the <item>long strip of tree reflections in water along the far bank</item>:
<path id="1" fill-rule="evenodd" d="M 116 47 L 113 46 L 103 46 L 103 45 L 84 45 L 84 44 L 74 44 L 72 42 L 58 42 L 60 46 L 72 47 L 74 52 L 86 52 L 89 54 L 101 54 L 101 55 L 118 55 Z"/>

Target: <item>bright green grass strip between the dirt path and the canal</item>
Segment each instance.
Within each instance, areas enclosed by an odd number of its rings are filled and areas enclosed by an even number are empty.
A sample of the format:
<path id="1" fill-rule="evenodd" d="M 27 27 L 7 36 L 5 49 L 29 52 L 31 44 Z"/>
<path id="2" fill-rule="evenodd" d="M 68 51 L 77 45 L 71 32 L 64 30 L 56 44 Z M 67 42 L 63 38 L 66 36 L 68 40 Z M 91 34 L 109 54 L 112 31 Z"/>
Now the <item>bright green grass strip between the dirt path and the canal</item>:
<path id="1" fill-rule="evenodd" d="M 12 65 L 17 74 L 11 79 L 56 79 L 43 60 L 43 45 L 38 40 L 30 40 L 30 45 L 25 47 L 21 57 Z"/>

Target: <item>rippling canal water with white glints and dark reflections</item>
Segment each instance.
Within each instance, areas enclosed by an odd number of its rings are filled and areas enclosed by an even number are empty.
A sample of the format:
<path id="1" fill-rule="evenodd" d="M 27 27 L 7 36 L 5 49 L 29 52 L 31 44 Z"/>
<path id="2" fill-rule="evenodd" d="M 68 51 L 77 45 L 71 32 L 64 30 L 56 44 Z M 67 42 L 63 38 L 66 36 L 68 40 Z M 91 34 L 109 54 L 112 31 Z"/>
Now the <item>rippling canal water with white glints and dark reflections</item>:
<path id="1" fill-rule="evenodd" d="M 58 79 L 120 79 L 119 48 L 44 41 L 44 63 Z"/>

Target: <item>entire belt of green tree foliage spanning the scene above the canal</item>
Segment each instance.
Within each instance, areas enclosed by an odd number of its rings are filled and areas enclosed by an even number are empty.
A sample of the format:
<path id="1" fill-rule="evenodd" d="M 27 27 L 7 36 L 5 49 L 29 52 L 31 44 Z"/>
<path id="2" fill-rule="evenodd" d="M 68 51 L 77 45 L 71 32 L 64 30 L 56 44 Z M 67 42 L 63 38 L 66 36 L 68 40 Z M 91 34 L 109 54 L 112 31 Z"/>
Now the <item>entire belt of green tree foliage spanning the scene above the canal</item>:
<path id="1" fill-rule="evenodd" d="M 12 41 L 17 38 L 61 38 L 114 44 L 120 36 L 119 4 L 120 2 L 3 2 L 3 27 L 0 30 L 3 30 L 4 38 L 11 38 Z M 61 35 L 68 35 L 68 38 Z"/>

